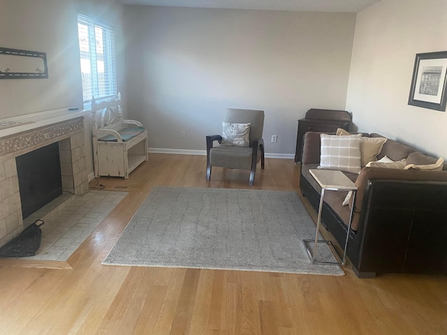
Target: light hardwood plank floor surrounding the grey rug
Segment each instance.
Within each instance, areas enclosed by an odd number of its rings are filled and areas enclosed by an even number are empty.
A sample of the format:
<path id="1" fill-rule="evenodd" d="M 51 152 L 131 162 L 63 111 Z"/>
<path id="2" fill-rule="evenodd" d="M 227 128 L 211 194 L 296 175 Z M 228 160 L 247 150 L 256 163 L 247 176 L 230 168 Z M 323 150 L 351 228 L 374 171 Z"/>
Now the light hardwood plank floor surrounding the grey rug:
<path id="1" fill-rule="evenodd" d="M 447 334 L 447 276 L 359 279 L 349 265 L 346 276 L 101 265 L 152 186 L 249 188 L 248 179 L 214 168 L 206 182 L 205 156 L 165 154 L 149 154 L 127 180 L 99 179 L 129 195 L 68 264 L 0 260 L 0 334 Z M 251 188 L 298 191 L 298 183 L 292 160 L 267 158 Z"/>

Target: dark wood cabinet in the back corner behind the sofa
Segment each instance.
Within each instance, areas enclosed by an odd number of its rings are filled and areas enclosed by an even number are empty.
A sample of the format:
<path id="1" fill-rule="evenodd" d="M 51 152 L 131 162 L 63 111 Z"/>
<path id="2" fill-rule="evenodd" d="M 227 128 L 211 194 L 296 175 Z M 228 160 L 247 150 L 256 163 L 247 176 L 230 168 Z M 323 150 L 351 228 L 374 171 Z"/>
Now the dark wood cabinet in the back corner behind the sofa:
<path id="1" fill-rule="evenodd" d="M 346 110 L 316 110 L 307 111 L 304 119 L 298 120 L 298 134 L 296 136 L 295 163 L 301 161 L 302 140 L 308 131 L 335 133 L 337 128 L 350 131 L 352 116 Z"/>

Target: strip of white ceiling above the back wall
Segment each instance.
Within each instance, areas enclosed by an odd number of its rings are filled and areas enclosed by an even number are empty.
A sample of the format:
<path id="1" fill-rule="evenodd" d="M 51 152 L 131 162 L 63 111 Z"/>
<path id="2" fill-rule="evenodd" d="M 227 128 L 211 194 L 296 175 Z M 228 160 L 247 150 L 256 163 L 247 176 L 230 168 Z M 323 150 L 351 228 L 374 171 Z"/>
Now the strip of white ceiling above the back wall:
<path id="1" fill-rule="evenodd" d="M 117 0 L 126 5 L 292 10 L 305 12 L 358 11 L 380 0 Z"/>

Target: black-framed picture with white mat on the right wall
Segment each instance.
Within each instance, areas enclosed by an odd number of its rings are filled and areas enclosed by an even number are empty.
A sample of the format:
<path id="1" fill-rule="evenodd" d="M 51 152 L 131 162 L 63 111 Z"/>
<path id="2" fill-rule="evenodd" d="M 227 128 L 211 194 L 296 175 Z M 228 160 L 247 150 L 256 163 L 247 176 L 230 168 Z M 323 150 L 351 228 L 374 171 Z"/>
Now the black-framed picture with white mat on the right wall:
<path id="1" fill-rule="evenodd" d="M 447 51 L 416 54 L 408 104 L 446 111 Z"/>

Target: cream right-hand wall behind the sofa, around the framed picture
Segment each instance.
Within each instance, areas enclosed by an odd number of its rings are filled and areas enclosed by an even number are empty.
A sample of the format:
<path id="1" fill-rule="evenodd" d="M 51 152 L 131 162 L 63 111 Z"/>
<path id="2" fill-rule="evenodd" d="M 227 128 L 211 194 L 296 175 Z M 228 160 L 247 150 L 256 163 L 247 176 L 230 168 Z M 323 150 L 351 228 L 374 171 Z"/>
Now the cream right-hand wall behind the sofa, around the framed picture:
<path id="1" fill-rule="evenodd" d="M 346 108 L 359 131 L 447 158 L 447 113 L 407 105 L 416 54 L 446 41 L 446 0 L 382 0 L 358 13 Z"/>

